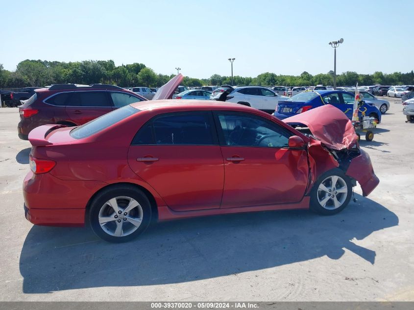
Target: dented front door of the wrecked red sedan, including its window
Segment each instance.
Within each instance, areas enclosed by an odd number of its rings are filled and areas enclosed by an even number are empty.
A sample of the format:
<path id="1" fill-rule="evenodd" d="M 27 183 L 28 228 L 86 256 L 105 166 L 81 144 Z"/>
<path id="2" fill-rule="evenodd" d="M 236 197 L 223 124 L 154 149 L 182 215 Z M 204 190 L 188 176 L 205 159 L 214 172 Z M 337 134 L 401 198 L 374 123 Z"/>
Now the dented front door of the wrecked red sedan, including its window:
<path id="1" fill-rule="evenodd" d="M 306 150 L 290 149 L 286 128 L 246 113 L 217 112 L 224 160 L 221 208 L 299 202 L 308 184 Z"/>

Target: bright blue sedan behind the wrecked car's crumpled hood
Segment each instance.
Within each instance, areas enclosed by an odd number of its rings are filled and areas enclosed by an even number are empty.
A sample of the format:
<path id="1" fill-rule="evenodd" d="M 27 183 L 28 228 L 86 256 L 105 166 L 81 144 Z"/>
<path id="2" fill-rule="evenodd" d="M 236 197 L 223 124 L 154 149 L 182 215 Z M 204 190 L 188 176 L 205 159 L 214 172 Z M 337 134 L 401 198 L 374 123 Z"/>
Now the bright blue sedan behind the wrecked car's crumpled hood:
<path id="1" fill-rule="evenodd" d="M 286 101 L 279 101 L 273 115 L 278 119 L 286 119 L 298 113 L 306 112 L 310 109 L 320 107 L 324 104 L 332 104 L 340 109 L 349 119 L 352 119 L 354 95 L 345 91 L 318 90 L 305 91 L 294 95 Z M 373 117 L 381 121 L 381 112 L 369 101 L 365 101 L 359 107 L 359 116 L 365 112 L 365 116 Z"/>

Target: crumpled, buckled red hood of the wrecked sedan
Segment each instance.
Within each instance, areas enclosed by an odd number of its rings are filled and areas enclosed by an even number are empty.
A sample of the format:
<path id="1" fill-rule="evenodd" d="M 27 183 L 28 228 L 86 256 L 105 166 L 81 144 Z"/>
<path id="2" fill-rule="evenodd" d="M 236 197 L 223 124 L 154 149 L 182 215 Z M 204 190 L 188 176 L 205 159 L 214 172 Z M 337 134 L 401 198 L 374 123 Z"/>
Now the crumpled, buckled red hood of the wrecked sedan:
<path id="1" fill-rule="evenodd" d="M 283 119 L 287 124 L 304 124 L 328 148 L 341 150 L 358 145 L 358 136 L 348 117 L 331 104 Z"/>

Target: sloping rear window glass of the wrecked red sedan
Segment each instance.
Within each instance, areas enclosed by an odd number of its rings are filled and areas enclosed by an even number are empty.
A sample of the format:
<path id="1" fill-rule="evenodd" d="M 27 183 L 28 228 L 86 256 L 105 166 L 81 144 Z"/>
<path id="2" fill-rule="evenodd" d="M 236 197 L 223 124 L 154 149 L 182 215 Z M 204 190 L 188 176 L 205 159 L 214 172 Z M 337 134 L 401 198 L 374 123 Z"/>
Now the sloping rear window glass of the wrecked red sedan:
<path id="1" fill-rule="evenodd" d="M 82 126 L 79 126 L 71 131 L 71 137 L 75 139 L 84 139 L 90 137 L 97 132 L 112 126 L 122 119 L 131 116 L 139 112 L 140 110 L 131 107 L 130 105 L 124 106 L 120 109 L 104 114 L 97 119 L 93 119 Z"/>

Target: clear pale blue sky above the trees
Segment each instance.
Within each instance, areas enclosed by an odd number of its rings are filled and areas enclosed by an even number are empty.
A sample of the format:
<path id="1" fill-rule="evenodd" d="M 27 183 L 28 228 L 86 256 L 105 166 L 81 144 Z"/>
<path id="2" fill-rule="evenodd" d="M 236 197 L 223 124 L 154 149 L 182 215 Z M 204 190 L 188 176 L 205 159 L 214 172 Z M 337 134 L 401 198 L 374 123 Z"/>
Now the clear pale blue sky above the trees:
<path id="1" fill-rule="evenodd" d="M 412 0 L 0 0 L 0 63 L 24 59 L 144 63 L 207 78 L 414 69 Z"/>

